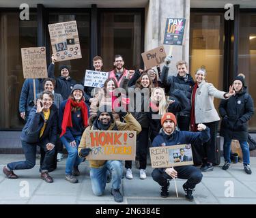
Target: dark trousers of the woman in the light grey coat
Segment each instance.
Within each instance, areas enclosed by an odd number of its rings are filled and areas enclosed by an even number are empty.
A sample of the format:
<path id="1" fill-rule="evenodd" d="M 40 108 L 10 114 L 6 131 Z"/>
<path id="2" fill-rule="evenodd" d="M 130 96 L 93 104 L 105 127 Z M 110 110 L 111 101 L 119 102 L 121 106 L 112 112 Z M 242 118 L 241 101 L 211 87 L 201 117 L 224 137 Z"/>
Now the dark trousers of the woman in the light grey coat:
<path id="1" fill-rule="evenodd" d="M 215 163 L 215 147 L 218 133 L 218 121 L 203 124 L 209 127 L 211 136 L 208 142 L 203 143 L 203 163 Z"/>

